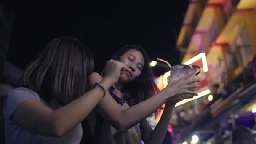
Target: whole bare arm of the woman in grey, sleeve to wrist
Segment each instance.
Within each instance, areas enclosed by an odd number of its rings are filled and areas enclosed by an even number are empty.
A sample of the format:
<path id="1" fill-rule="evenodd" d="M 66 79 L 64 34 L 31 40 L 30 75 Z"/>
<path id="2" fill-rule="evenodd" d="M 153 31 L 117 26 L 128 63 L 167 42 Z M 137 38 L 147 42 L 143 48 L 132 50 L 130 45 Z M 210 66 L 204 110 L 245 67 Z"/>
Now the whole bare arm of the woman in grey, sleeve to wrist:
<path id="1" fill-rule="evenodd" d="M 40 135 L 62 136 L 84 120 L 102 96 L 103 91 L 96 87 L 55 111 L 41 101 L 29 99 L 16 108 L 13 121 Z"/>

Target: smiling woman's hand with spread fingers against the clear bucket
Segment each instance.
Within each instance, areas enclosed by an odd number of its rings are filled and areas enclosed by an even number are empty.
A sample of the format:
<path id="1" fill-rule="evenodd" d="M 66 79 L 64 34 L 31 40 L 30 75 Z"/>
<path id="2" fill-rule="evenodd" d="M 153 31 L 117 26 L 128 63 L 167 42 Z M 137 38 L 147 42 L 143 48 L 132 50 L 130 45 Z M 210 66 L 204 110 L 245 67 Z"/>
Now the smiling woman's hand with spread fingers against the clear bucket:
<path id="1" fill-rule="evenodd" d="M 195 95 L 197 96 L 198 94 L 195 91 L 189 91 L 188 89 L 190 88 L 200 88 L 199 85 L 196 85 L 196 82 L 200 82 L 199 79 L 192 79 L 188 80 L 188 78 L 191 75 L 195 75 L 195 73 L 190 74 L 190 75 L 185 75 L 181 79 L 177 81 L 173 81 L 172 77 L 170 77 L 170 80 L 168 82 L 168 85 L 166 88 L 164 88 L 164 91 L 167 92 L 168 98 L 171 98 L 173 96 L 182 96 L 182 95 Z"/>

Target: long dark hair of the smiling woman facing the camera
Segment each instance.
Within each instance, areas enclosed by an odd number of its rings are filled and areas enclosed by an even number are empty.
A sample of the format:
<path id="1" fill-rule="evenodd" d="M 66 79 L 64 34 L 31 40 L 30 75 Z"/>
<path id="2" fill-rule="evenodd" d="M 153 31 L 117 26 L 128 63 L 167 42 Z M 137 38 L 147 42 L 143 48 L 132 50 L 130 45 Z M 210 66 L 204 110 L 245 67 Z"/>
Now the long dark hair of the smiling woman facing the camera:
<path id="1" fill-rule="evenodd" d="M 124 93 L 124 100 L 128 102 L 130 106 L 140 103 L 155 95 L 159 91 L 154 81 L 154 73 L 149 66 L 149 58 L 146 51 L 138 45 L 125 45 L 119 51 L 115 52 L 110 59 L 120 60 L 128 50 L 135 49 L 142 53 L 144 57 L 144 67 L 141 70 L 141 75 L 137 77 L 133 82 L 125 84 L 122 92 Z"/>

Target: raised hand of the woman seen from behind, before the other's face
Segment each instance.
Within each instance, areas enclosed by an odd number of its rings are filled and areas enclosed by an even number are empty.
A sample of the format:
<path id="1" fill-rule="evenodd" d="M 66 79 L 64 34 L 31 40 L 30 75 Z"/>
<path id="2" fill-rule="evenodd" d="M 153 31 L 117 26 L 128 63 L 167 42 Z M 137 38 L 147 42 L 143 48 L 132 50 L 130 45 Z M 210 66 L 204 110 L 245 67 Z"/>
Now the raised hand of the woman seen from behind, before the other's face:
<path id="1" fill-rule="evenodd" d="M 111 80 L 114 84 L 118 81 L 123 69 L 128 69 L 128 66 L 120 61 L 115 61 L 111 59 L 106 63 L 104 78 Z"/>

